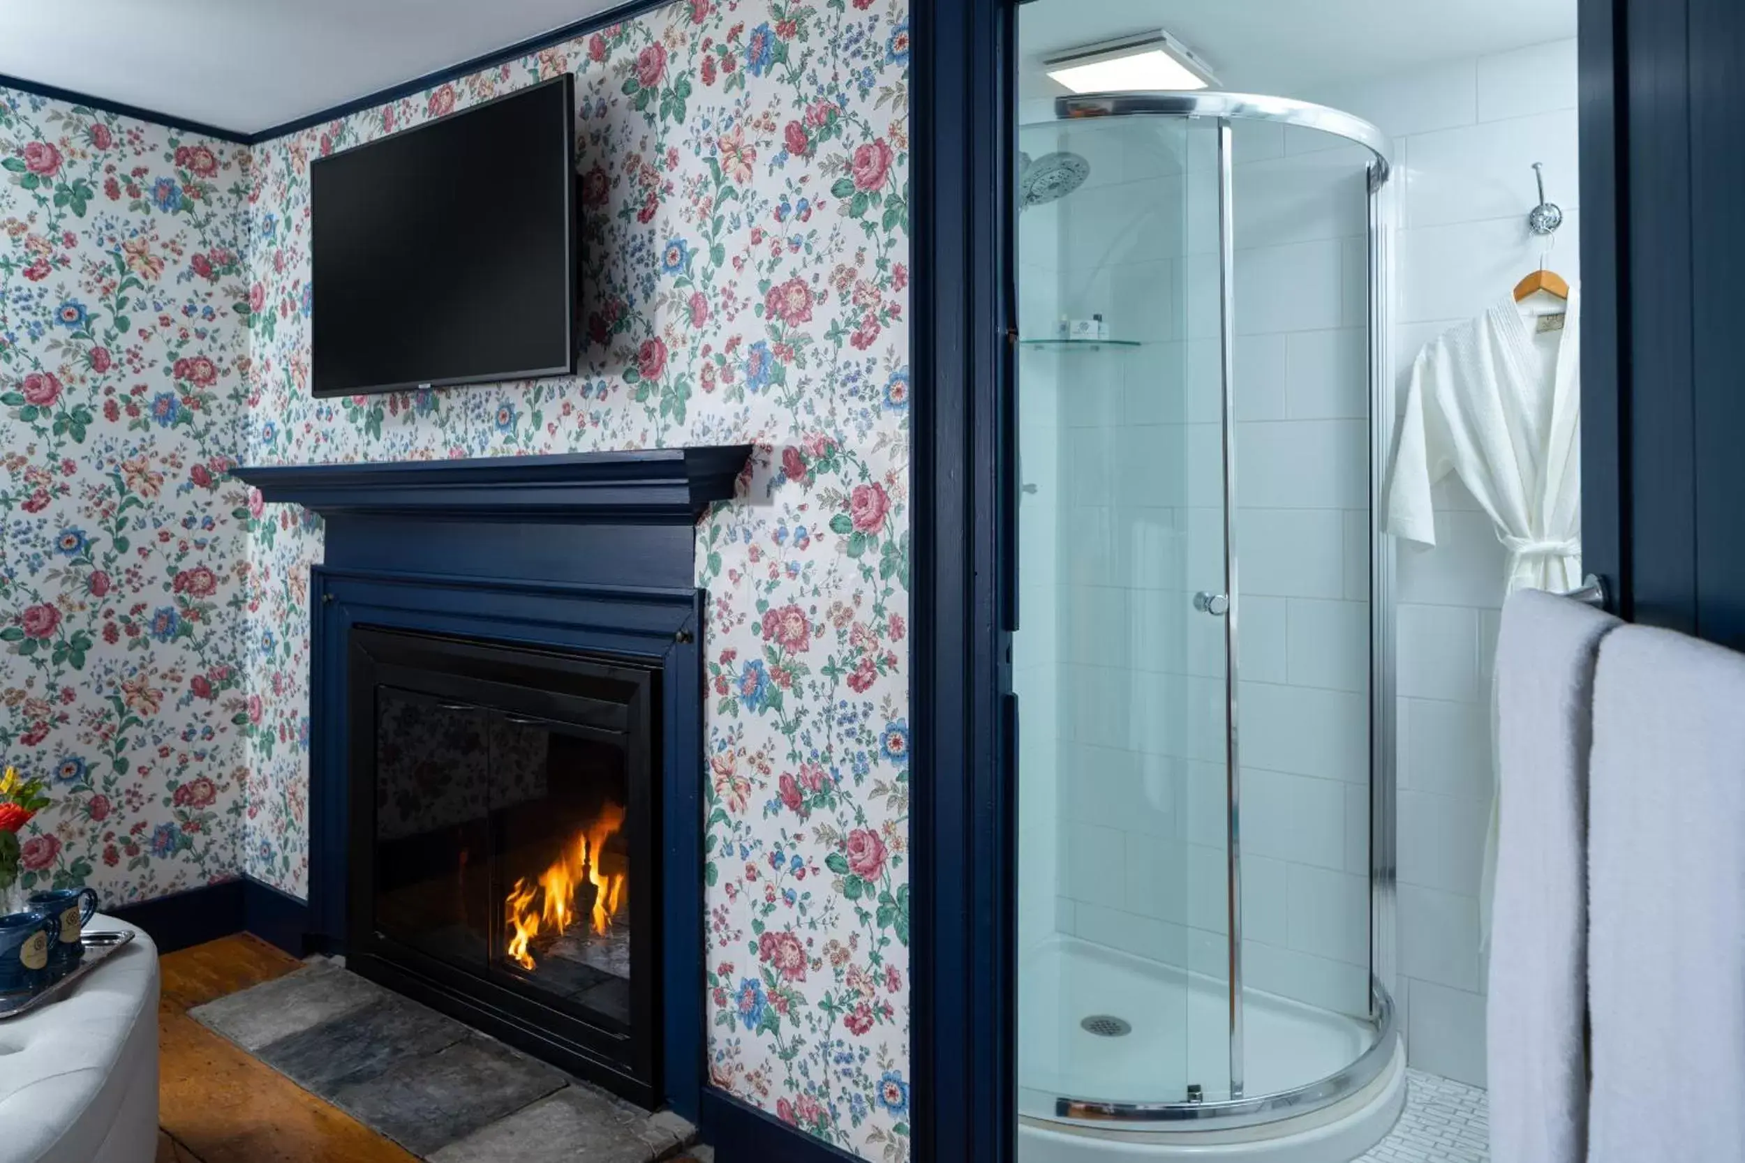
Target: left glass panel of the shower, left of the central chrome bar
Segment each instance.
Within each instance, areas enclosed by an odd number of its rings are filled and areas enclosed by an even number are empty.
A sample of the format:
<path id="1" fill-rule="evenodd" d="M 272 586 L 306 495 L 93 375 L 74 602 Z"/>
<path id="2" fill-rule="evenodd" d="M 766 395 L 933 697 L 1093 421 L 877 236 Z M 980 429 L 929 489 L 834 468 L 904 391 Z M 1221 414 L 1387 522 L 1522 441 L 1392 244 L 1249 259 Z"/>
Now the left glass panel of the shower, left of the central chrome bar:
<path id="1" fill-rule="evenodd" d="M 1021 1105 L 1225 1098 L 1216 127 L 1019 148 Z"/>

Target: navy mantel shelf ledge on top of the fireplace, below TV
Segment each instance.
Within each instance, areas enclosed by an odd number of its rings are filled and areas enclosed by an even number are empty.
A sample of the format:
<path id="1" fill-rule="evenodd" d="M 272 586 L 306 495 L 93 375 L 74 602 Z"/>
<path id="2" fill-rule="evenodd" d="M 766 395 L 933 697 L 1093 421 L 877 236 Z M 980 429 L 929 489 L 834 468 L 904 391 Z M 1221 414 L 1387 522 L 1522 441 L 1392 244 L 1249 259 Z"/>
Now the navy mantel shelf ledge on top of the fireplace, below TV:
<path id="1" fill-rule="evenodd" d="M 232 469 L 263 500 L 332 514 L 471 521 L 695 521 L 731 500 L 750 445 L 478 460 L 288 464 Z"/>

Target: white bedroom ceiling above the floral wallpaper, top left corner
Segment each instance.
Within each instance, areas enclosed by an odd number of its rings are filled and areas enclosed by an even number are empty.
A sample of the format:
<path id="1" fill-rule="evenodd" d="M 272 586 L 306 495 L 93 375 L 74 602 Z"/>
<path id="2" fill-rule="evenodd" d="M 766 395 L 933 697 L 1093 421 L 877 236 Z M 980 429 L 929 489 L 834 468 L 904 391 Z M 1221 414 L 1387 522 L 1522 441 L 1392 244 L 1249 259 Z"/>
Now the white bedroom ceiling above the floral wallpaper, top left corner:
<path id="1" fill-rule="evenodd" d="M 0 73 L 255 133 L 612 5 L 614 0 L 0 0 Z"/>

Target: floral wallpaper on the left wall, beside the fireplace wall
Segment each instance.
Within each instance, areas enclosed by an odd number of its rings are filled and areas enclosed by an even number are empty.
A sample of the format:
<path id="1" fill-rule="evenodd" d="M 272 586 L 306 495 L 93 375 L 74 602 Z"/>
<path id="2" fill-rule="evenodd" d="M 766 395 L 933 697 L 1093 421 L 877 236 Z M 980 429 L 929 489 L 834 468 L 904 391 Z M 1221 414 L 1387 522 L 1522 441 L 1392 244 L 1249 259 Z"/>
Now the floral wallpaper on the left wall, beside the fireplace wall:
<path id="1" fill-rule="evenodd" d="M 250 155 L 0 89 L 0 757 L 26 889 L 236 875 Z"/>

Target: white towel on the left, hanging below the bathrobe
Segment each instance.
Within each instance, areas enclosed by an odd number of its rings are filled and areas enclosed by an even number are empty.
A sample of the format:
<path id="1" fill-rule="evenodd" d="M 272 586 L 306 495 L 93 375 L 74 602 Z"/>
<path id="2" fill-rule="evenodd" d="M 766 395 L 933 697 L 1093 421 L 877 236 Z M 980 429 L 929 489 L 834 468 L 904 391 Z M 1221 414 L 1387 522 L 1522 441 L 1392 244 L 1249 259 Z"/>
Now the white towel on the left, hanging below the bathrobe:
<path id="1" fill-rule="evenodd" d="M 1522 589 L 1497 638 L 1501 758 L 1485 1071 L 1490 1158 L 1581 1163 L 1593 664 L 1616 617 Z"/>

